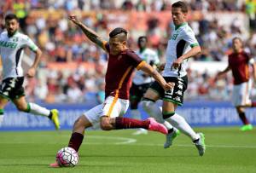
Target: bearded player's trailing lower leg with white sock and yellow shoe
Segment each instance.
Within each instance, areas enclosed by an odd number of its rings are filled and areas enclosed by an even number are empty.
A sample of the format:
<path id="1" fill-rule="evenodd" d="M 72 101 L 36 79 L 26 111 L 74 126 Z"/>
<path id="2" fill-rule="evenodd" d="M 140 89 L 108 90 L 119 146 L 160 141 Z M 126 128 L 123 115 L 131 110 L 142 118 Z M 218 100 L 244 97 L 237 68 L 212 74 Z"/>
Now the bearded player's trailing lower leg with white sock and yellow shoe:
<path id="1" fill-rule="evenodd" d="M 15 98 L 12 101 L 14 102 L 15 106 L 19 111 L 29 112 L 34 115 L 48 117 L 55 124 L 55 129 L 56 130 L 60 129 L 60 123 L 58 118 L 59 112 L 56 109 L 49 110 L 45 107 L 40 107 L 36 103 L 32 103 L 32 102 L 28 103 L 26 102 L 24 95 L 20 95 L 20 97 Z"/>

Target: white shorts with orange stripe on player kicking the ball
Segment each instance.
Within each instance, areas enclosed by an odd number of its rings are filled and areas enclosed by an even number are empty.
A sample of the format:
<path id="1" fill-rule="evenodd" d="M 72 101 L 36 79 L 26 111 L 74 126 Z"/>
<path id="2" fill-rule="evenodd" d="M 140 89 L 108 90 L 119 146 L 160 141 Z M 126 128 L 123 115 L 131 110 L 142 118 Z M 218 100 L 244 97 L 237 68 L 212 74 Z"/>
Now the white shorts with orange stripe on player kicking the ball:
<path id="1" fill-rule="evenodd" d="M 110 118 L 123 116 L 128 107 L 129 100 L 115 99 L 113 96 L 108 96 L 101 105 L 91 108 L 84 113 L 84 116 L 90 121 L 90 124 L 97 129 L 99 128 L 100 118 L 102 116 L 108 116 Z"/>

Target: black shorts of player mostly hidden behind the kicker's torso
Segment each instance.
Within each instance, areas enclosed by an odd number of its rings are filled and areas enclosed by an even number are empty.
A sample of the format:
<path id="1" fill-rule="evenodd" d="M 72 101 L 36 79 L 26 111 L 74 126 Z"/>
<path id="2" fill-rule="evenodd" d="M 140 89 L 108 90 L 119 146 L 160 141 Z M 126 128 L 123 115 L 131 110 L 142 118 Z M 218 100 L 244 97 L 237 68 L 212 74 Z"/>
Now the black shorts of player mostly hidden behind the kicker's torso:
<path id="1" fill-rule="evenodd" d="M 148 84 L 134 84 L 132 83 L 130 89 L 130 98 L 140 101 L 143 98 L 144 93 L 147 91 L 149 86 L 153 83 Z"/>

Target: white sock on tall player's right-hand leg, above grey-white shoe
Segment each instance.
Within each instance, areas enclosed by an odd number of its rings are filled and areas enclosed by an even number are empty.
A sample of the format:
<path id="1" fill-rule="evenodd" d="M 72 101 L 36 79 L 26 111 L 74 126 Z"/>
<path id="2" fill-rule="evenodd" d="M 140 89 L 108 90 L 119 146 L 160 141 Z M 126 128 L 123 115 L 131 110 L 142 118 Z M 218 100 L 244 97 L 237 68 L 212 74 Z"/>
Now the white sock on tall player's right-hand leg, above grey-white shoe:
<path id="1" fill-rule="evenodd" d="M 183 134 L 189 136 L 192 141 L 197 140 L 200 136 L 195 133 L 195 131 L 190 127 L 190 125 L 186 122 L 186 120 L 175 113 L 172 117 L 166 118 L 166 120 L 176 127 L 178 130 L 181 130 Z"/>

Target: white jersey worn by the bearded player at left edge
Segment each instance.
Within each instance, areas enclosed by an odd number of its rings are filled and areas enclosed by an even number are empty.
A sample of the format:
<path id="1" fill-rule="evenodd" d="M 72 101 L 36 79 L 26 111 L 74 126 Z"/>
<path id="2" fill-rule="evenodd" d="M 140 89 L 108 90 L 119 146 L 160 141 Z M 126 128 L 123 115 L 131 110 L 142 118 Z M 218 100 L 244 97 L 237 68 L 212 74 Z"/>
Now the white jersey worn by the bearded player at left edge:
<path id="1" fill-rule="evenodd" d="M 23 76 L 21 59 L 24 52 L 23 49 L 26 47 L 33 51 L 38 49 L 38 46 L 28 36 L 20 32 L 16 32 L 12 37 L 9 37 L 7 32 L 1 33 L 0 55 L 3 64 L 3 79 Z"/>

